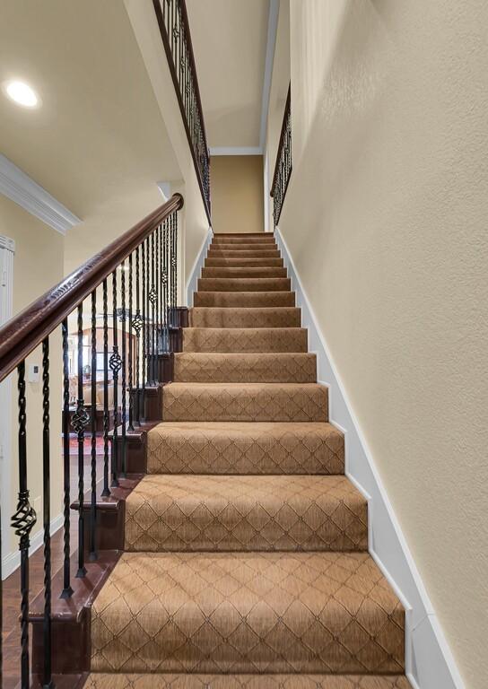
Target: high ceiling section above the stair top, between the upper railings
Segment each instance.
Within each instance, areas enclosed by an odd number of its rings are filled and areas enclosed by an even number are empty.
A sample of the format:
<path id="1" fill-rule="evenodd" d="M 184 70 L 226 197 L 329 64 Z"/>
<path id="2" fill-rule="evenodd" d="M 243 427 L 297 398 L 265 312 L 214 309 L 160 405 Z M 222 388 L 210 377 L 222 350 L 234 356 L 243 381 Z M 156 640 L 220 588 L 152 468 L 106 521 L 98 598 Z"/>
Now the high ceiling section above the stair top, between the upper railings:
<path id="1" fill-rule="evenodd" d="M 187 0 L 211 148 L 260 145 L 269 0 Z"/>

